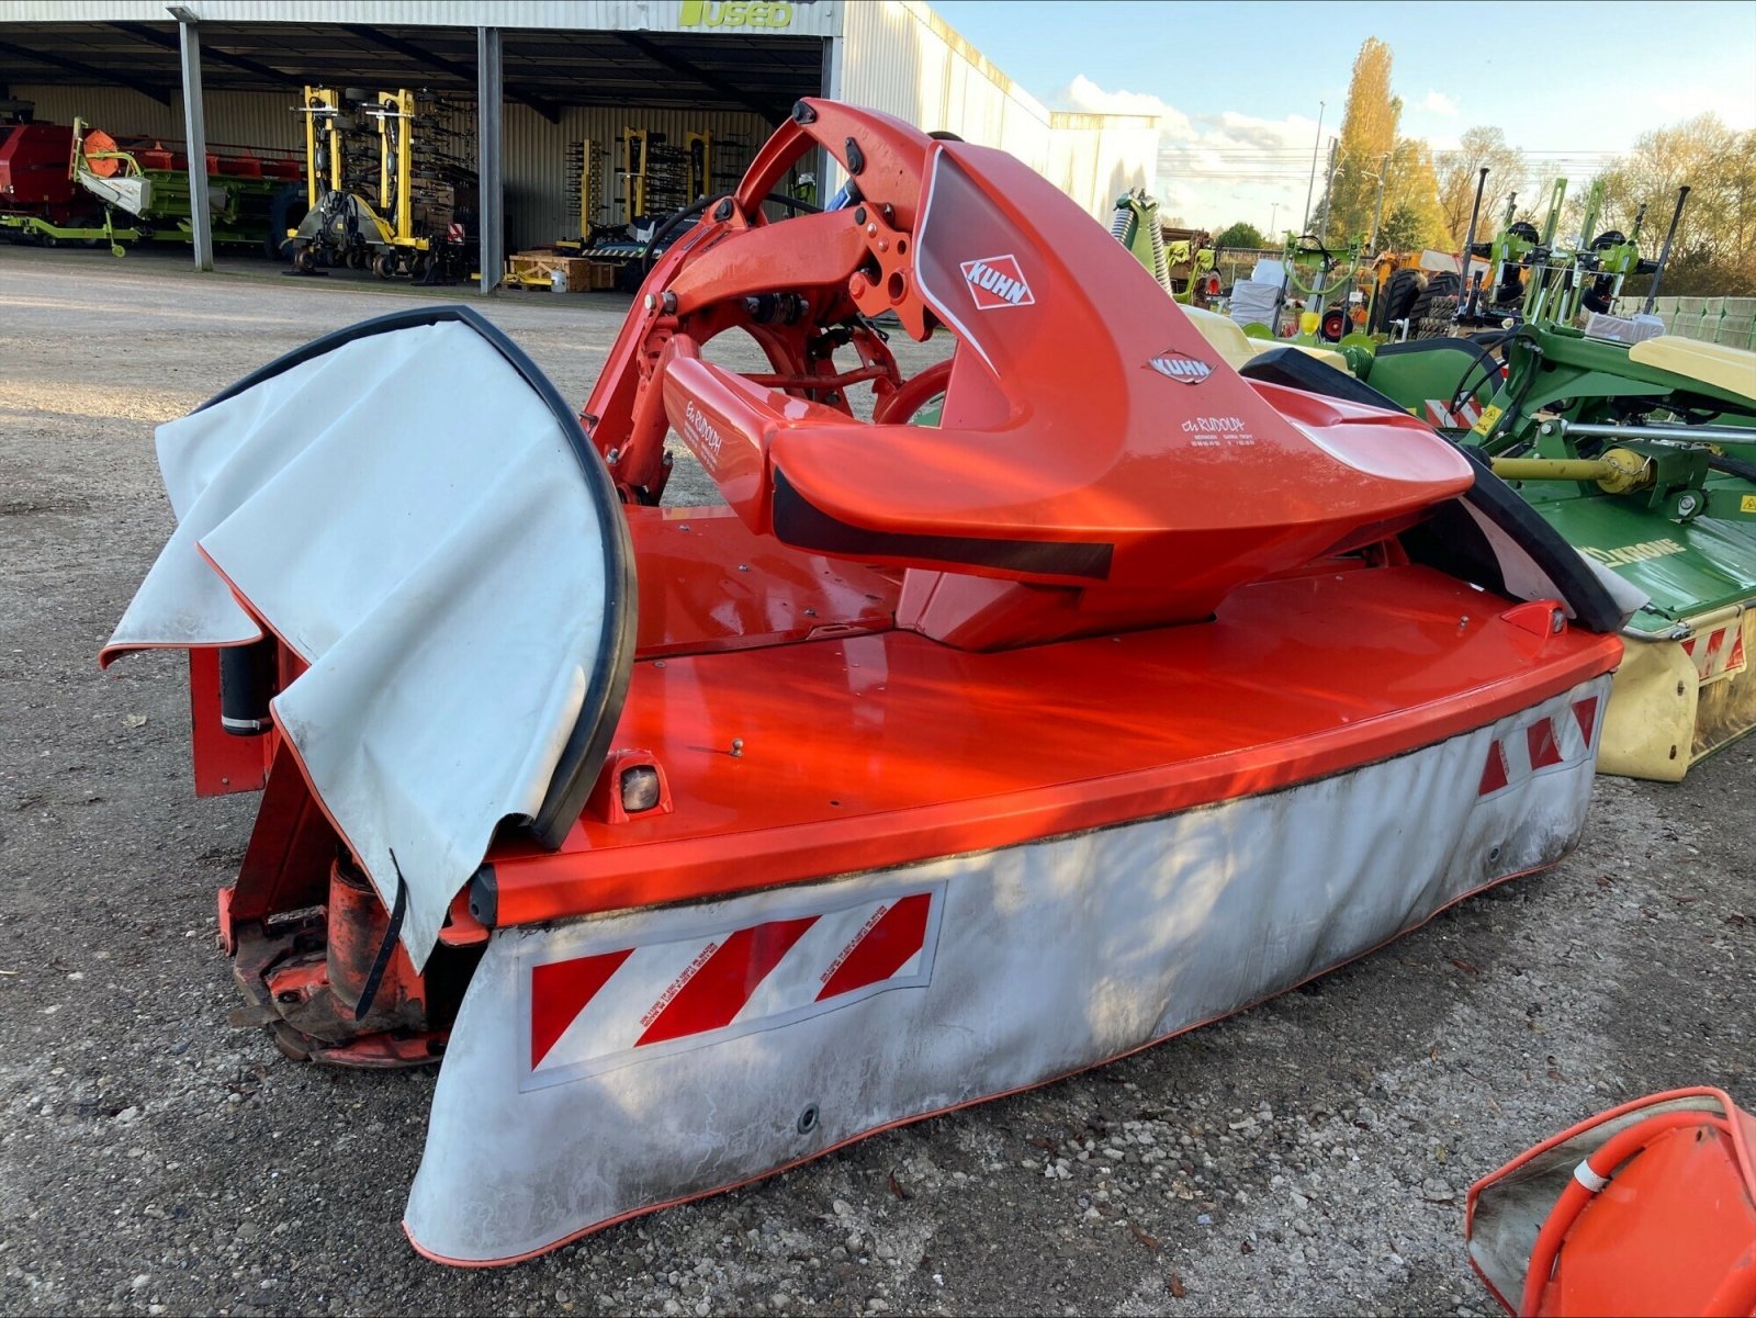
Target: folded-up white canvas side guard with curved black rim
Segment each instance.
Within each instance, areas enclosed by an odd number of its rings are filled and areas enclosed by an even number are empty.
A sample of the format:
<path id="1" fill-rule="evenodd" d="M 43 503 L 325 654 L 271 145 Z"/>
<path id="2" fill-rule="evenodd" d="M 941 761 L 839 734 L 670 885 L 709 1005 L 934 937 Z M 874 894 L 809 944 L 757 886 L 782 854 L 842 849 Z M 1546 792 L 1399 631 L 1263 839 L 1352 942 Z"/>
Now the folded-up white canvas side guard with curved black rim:
<path id="1" fill-rule="evenodd" d="M 632 662 L 627 526 L 553 386 L 476 312 L 342 330 L 158 428 L 177 530 L 102 660 L 232 646 L 416 969 L 507 816 L 560 842 Z M 569 813 L 571 811 L 571 813 Z"/>

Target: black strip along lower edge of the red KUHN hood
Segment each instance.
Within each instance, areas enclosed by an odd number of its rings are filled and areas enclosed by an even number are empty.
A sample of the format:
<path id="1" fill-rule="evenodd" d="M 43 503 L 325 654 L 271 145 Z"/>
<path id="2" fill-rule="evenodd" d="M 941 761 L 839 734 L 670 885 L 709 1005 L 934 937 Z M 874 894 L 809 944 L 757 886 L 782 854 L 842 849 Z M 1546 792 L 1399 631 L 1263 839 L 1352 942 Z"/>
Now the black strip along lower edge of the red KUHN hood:
<path id="1" fill-rule="evenodd" d="M 839 558 L 925 558 L 934 563 L 990 567 L 1045 577 L 1110 576 L 1113 544 L 1073 541 L 987 541 L 975 535 L 913 535 L 871 530 L 824 512 L 774 469 L 774 535 L 799 549 Z"/>

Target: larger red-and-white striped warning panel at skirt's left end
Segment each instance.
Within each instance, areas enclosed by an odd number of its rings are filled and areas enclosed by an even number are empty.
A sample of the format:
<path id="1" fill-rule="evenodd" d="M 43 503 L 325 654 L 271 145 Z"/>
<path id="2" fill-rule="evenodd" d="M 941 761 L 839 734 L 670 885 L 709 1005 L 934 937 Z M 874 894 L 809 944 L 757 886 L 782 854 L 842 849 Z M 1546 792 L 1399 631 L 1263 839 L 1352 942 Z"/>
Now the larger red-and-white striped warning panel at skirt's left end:
<path id="1" fill-rule="evenodd" d="M 802 1020 L 924 985 L 939 890 L 530 969 L 530 1071 Z"/>

